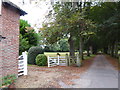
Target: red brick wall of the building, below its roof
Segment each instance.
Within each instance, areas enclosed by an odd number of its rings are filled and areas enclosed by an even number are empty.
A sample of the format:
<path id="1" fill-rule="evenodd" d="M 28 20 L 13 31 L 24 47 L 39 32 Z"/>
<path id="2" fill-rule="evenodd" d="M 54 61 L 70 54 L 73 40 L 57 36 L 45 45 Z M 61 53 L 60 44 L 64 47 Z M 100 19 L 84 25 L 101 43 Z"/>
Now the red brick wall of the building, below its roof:
<path id="1" fill-rule="evenodd" d="M 2 36 L 6 39 L 0 42 L 2 46 L 2 75 L 17 75 L 17 58 L 19 55 L 19 18 L 17 10 L 2 6 Z M 1 57 L 0 57 L 1 59 Z"/>

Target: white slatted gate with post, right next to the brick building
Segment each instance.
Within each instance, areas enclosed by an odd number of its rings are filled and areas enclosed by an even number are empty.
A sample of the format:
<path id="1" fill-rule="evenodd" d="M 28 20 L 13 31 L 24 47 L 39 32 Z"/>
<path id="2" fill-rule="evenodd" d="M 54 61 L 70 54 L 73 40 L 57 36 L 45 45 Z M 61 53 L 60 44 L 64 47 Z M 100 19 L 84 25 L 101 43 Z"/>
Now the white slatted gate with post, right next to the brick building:
<path id="1" fill-rule="evenodd" d="M 27 52 L 18 57 L 18 76 L 27 75 Z"/>

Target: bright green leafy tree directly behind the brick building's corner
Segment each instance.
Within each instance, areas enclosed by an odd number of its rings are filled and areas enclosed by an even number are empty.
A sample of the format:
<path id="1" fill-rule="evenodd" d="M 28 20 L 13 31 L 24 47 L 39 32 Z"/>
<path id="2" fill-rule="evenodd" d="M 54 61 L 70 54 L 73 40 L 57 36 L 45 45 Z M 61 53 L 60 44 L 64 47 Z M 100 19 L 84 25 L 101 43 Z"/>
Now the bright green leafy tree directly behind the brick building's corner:
<path id="1" fill-rule="evenodd" d="M 20 20 L 20 54 L 32 46 L 37 46 L 38 35 L 35 30 L 25 20 Z"/>

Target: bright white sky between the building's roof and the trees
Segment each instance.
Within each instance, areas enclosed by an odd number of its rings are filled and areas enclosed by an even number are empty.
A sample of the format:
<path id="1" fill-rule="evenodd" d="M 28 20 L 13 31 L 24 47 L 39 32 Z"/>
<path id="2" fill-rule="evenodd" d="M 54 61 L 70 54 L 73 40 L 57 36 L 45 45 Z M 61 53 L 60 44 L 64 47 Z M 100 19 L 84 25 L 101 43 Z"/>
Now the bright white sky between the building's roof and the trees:
<path id="1" fill-rule="evenodd" d="M 22 3 L 23 0 L 10 1 L 28 13 L 27 15 L 21 16 L 20 18 L 27 20 L 28 23 L 35 29 L 36 27 L 42 27 L 42 22 L 45 20 L 45 16 L 48 14 L 49 9 L 51 8 L 51 4 L 48 1 L 41 1 L 35 4 L 35 2 L 29 3 L 29 0 L 24 0 L 24 5 Z"/>

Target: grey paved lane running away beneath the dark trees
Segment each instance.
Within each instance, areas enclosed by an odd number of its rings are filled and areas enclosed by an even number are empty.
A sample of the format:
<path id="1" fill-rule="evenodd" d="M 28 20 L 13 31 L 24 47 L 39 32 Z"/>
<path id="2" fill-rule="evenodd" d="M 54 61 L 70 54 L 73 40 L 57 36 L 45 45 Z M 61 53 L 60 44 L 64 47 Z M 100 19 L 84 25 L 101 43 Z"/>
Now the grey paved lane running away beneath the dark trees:
<path id="1" fill-rule="evenodd" d="M 72 81 L 74 85 L 59 84 L 62 88 L 118 88 L 118 71 L 104 55 L 97 55 L 90 68 Z"/>

